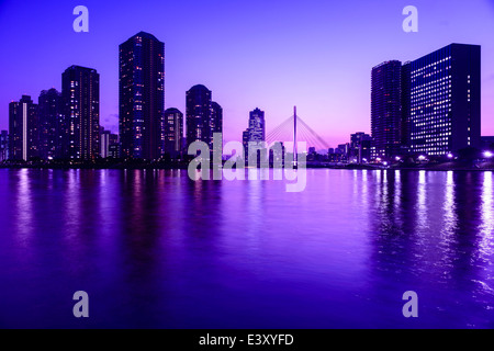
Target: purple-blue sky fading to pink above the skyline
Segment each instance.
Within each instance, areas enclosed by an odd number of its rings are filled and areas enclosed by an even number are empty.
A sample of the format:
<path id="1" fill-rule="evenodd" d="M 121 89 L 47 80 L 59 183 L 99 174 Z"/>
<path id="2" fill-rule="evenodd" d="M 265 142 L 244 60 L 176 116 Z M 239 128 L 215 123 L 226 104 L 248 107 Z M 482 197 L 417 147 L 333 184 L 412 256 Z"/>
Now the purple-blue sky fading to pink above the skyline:
<path id="1" fill-rule="evenodd" d="M 75 33 L 72 9 L 89 9 Z M 418 8 L 418 33 L 402 10 Z M 482 45 L 482 135 L 494 135 L 494 0 L 470 1 L 13 1 L 0 0 L 0 128 L 8 103 L 60 90 L 70 65 L 101 75 L 101 124 L 117 131 L 119 44 L 146 31 L 166 45 L 166 107 L 184 112 L 202 83 L 224 109 L 225 141 L 242 140 L 248 112 L 268 133 L 297 112 L 330 146 L 370 132 L 370 71 L 450 43 Z"/>

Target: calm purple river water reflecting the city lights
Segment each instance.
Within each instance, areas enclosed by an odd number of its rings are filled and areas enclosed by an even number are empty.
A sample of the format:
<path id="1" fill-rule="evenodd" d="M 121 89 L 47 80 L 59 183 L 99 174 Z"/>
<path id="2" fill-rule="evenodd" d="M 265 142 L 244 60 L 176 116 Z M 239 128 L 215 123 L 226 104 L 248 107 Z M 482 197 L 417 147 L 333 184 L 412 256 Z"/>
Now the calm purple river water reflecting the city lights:
<path id="1" fill-rule="evenodd" d="M 307 170 L 288 193 L 187 171 L 0 169 L 0 327 L 493 328 L 493 182 Z M 405 291 L 418 318 L 402 315 Z"/>

